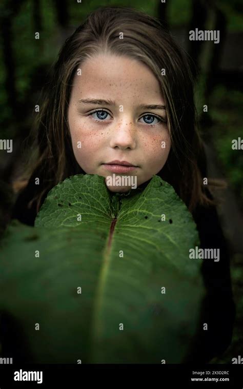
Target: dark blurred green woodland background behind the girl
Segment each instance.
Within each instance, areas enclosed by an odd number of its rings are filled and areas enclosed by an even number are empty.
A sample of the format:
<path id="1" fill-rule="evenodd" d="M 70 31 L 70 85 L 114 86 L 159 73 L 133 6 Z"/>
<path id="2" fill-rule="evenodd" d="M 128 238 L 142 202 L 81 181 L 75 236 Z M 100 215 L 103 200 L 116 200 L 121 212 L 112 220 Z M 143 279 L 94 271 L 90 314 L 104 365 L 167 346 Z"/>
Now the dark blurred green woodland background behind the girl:
<path id="1" fill-rule="evenodd" d="M 40 91 L 51 77 L 51 65 L 65 39 L 100 6 L 133 7 L 168 24 L 173 37 L 191 56 L 196 75 L 195 101 L 199 129 L 206 145 L 209 177 L 224 178 L 217 189 L 218 214 L 231 252 L 236 303 L 232 344 L 211 363 L 231 363 L 243 356 L 243 150 L 232 150 L 241 137 L 243 110 L 243 3 L 241 0 L 3 0 L 0 5 L 0 138 L 13 139 L 13 151 L 0 150 L 1 225 L 10 220 L 16 198 L 12 181 L 23 160 Z M 220 30 L 220 42 L 190 41 L 189 31 Z M 40 38 L 35 39 L 35 32 Z M 241 89 L 240 89 L 241 87 Z M 208 112 L 203 112 L 203 106 Z M 227 312 L 226 312 L 227 315 Z"/>

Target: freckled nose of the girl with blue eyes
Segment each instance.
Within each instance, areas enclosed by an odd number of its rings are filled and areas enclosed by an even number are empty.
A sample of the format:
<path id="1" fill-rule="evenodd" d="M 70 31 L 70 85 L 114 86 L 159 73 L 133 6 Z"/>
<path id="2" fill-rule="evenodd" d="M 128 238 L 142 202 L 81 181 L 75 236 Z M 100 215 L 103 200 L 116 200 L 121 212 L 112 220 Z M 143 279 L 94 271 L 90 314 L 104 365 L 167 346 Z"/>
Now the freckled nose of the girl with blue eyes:
<path id="1" fill-rule="evenodd" d="M 134 149 L 136 147 L 136 128 L 132 119 L 119 120 L 112 130 L 110 146 L 119 149 Z"/>

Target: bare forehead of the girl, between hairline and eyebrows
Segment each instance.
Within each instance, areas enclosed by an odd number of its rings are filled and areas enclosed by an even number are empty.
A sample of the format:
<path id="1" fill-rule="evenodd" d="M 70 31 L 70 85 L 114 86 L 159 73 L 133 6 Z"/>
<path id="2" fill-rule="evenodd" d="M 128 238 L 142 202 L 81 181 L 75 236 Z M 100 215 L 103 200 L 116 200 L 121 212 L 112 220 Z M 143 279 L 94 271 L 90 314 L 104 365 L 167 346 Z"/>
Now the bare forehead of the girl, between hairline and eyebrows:
<path id="1" fill-rule="evenodd" d="M 113 54 L 99 54 L 86 59 L 75 74 L 73 93 L 76 96 L 148 97 L 163 99 L 157 78 L 148 66 L 136 59 Z M 97 96 L 96 96 L 97 97 Z"/>

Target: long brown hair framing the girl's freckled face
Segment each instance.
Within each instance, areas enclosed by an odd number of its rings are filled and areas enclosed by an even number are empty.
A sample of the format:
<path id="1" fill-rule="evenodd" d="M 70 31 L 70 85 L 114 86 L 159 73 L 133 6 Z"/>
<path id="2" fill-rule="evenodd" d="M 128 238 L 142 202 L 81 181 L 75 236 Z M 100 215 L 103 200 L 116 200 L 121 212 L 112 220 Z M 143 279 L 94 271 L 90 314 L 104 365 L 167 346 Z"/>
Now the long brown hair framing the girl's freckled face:
<path id="1" fill-rule="evenodd" d="M 123 39 L 119 39 L 120 32 Z M 100 52 L 135 58 L 154 73 L 165 99 L 171 137 L 167 162 L 157 175 L 174 187 L 190 211 L 197 204 L 213 203 L 205 194 L 199 169 L 205 156 L 196 126 L 194 80 L 187 54 L 157 18 L 133 8 L 102 7 L 90 13 L 66 39 L 40 99 L 40 112 L 32 130 L 34 153 L 24 172 L 25 185 L 36 177 L 40 179 L 31 200 L 36 201 L 36 212 L 59 181 L 85 174 L 74 157 L 67 111 L 77 68 Z M 161 69 L 165 69 L 165 75 L 161 75 Z"/>

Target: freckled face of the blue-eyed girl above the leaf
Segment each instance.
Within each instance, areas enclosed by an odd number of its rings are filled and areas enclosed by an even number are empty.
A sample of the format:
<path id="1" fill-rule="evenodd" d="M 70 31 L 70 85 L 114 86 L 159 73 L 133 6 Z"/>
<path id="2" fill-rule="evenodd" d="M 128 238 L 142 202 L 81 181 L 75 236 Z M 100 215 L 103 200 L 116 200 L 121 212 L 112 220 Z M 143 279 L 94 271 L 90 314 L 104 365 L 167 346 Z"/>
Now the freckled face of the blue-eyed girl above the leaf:
<path id="1" fill-rule="evenodd" d="M 163 106 L 159 83 L 146 65 L 112 54 L 86 59 L 75 74 L 68 108 L 79 166 L 105 177 L 112 192 L 148 181 L 163 168 L 171 147 Z M 114 160 L 135 167 L 109 166 Z"/>

